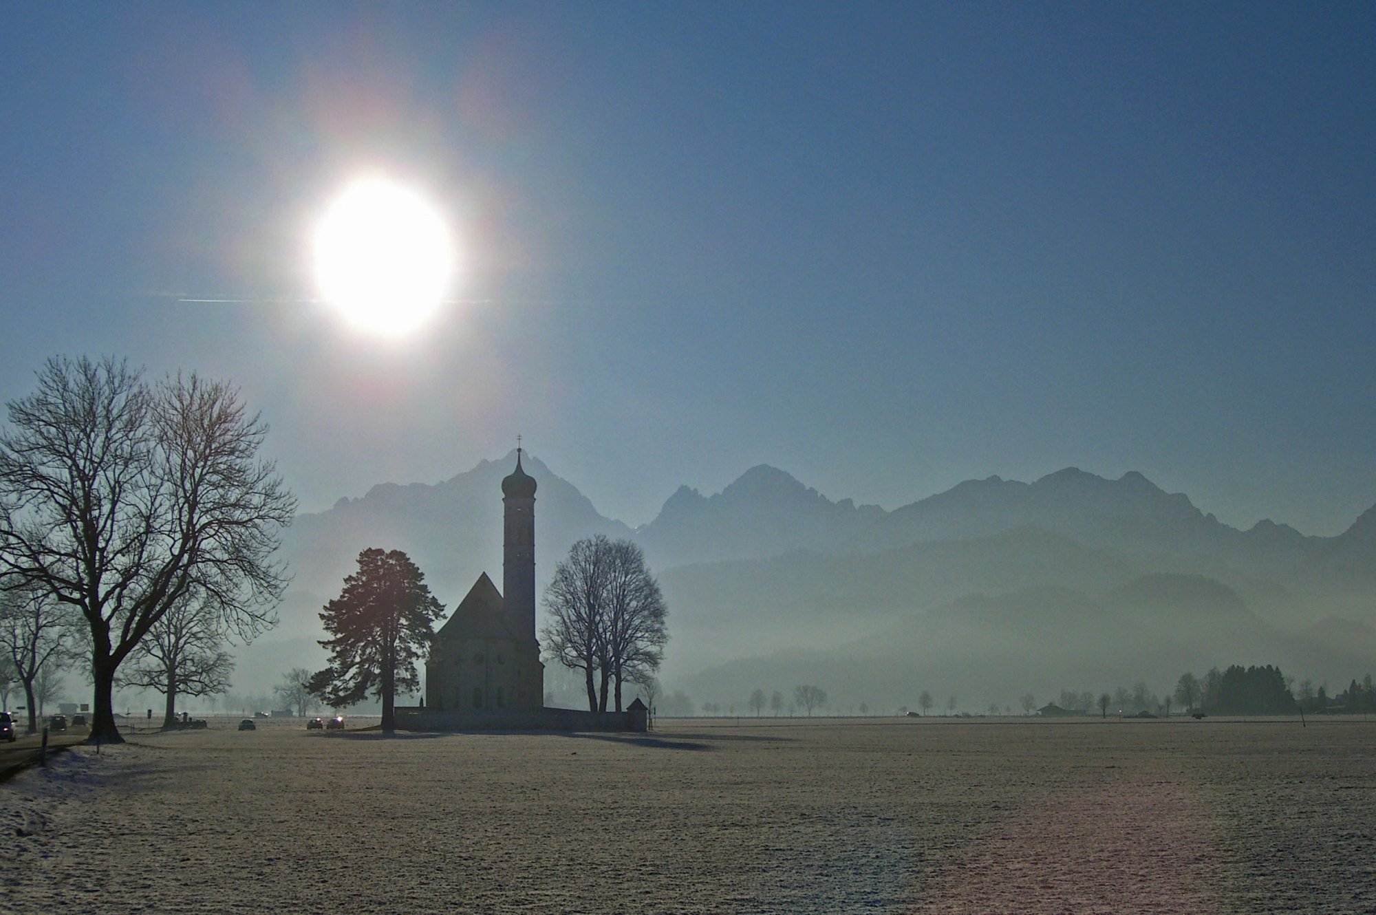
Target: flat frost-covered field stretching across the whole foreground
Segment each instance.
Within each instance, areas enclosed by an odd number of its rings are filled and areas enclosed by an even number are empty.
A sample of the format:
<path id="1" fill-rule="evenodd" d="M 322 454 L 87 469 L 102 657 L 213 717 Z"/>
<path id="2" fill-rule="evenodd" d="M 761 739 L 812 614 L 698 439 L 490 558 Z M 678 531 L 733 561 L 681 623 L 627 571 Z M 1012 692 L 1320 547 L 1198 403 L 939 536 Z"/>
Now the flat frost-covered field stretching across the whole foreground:
<path id="1" fill-rule="evenodd" d="M 1376 722 L 136 740 L 0 786 L 0 909 L 1376 911 Z"/>

